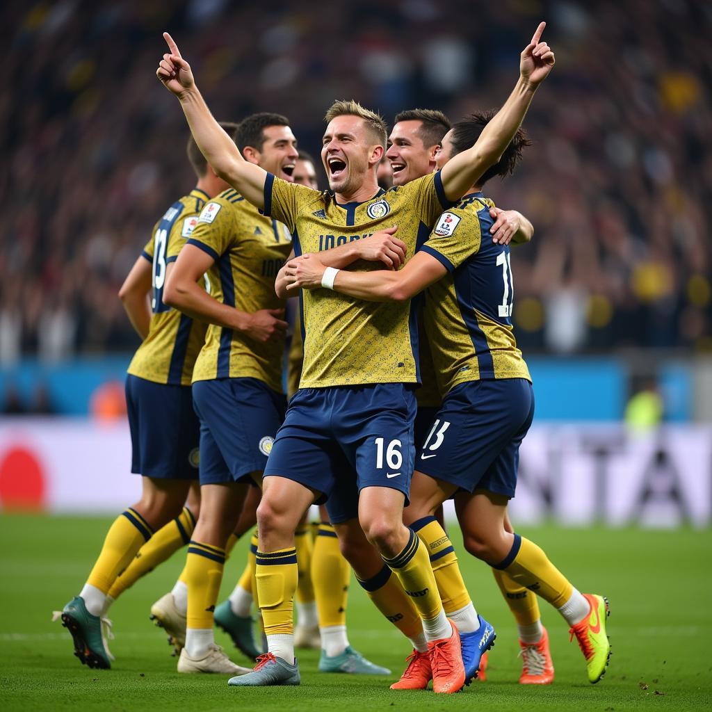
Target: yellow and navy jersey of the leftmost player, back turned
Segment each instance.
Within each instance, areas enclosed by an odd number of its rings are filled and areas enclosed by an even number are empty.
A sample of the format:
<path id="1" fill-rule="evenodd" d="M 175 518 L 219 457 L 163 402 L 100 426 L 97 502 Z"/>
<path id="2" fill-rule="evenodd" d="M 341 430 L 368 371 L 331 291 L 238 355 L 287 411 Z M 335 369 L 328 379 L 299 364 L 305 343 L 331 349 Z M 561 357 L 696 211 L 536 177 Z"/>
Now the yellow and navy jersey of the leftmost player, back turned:
<path id="1" fill-rule="evenodd" d="M 189 386 L 193 366 L 205 341 L 206 326 L 163 303 L 166 266 L 175 260 L 197 224 L 208 196 L 195 188 L 167 209 L 143 249 L 152 264 L 153 314 L 147 337 L 136 351 L 128 372 L 139 378 Z"/>

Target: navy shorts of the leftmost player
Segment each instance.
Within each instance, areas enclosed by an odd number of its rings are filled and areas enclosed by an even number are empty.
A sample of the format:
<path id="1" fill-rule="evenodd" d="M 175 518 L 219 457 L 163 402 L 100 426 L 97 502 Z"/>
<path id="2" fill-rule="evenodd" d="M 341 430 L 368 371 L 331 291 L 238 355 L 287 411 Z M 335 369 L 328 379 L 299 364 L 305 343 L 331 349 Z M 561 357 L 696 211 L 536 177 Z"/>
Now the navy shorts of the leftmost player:
<path id="1" fill-rule="evenodd" d="M 126 377 L 131 471 L 146 477 L 197 480 L 200 424 L 190 386 Z"/>

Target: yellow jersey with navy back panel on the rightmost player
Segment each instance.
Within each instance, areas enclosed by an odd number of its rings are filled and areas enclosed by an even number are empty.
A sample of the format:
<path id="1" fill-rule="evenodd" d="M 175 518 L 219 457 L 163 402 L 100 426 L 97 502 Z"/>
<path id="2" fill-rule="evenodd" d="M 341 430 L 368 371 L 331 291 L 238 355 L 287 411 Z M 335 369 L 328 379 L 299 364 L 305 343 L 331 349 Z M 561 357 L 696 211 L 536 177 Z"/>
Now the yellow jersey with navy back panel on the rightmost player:
<path id="1" fill-rule="evenodd" d="M 448 274 L 426 290 L 424 325 L 440 392 L 478 379 L 531 380 L 512 329 L 509 246 L 494 244 L 494 203 L 481 193 L 445 211 L 421 250 Z"/>

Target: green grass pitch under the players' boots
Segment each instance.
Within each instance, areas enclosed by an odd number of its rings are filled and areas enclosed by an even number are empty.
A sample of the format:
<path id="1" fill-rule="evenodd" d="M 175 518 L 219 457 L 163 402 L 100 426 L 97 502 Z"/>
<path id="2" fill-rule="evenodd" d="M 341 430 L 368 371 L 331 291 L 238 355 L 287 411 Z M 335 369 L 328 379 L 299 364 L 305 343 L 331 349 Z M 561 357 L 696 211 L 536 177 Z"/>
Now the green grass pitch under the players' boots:
<path id="1" fill-rule="evenodd" d="M 222 676 L 182 676 L 150 604 L 172 586 L 184 560 L 172 560 L 125 594 L 112 610 L 114 668 L 95 671 L 72 655 L 69 634 L 51 624 L 83 584 L 110 520 L 31 515 L 0 516 L 0 709 L 119 711 L 397 710 L 698 710 L 712 704 L 711 530 L 649 531 L 523 528 L 584 592 L 607 595 L 613 655 L 604 679 L 588 684 L 582 655 L 569 643 L 560 616 L 542 602 L 556 669 L 552 686 L 517 684 L 520 659 L 511 614 L 487 568 L 461 554 L 476 607 L 495 626 L 488 681 L 453 696 L 388 689 L 409 650 L 352 586 L 352 644 L 394 676 L 320 674 L 318 654 L 299 654 L 298 688 L 234 689 Z M 452 531 L 455 545 L 459 532 Z M 226 566 L 222 596 L 242 569 L 246 542 Z M 461 550 L 461 547 L 459 548 Z M 236 662 L 247 661 L 229 640 L 216 639 Z"/>

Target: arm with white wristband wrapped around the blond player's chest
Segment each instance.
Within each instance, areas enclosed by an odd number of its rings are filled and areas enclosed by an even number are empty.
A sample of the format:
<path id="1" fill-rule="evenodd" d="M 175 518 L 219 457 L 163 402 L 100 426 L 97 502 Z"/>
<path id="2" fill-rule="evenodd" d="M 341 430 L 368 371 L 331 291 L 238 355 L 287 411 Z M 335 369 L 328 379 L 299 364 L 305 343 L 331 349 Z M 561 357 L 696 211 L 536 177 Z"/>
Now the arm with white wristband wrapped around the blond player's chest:
<path id="1" fill-rule="evenodd" d="M 331 269 L 330 272 L 327 270 Z M 426 252 L 414 255 L 402 270 L 351 272 L 327 268 L 320 255 L 304 255 L 285 266 L 288 293 L 331 285 L 341 294 L 370 302 L 402 302 L 438 281 L 446 268 Z"/>

